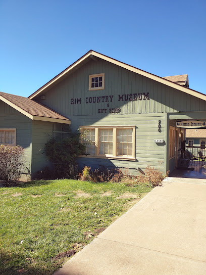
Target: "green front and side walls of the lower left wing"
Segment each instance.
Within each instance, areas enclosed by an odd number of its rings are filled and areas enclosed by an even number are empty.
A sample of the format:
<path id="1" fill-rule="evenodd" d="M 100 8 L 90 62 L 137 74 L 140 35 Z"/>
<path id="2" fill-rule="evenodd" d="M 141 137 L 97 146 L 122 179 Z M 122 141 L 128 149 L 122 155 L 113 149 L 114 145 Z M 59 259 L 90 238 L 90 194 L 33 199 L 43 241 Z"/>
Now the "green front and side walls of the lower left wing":
<path id="1" fill-rule="evenodd" d="M 52 164 L 43 153 L 45 143 L 53 136 L 53 123 L 31 120 L 0 101 L 0 128 L 16 128 L 16 145 L 24 148 L 25 173 L 35 173 Z"/>

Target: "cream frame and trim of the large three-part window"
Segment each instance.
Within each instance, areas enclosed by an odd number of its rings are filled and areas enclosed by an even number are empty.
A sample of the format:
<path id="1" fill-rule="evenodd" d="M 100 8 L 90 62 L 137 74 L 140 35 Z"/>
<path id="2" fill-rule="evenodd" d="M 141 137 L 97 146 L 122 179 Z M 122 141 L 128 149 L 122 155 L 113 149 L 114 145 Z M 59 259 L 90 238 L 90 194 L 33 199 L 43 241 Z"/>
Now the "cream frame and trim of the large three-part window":
<path id="1" fill-rule="evenodd" d="M 101 159 L 119 159 L 119 160 L 132 160 L 135 161 L 135 126 L 80 126 L 80 131 L 83 132 L 87 129 L 95 130 L 95 154 L 94 155 L 81 155 L 85 158 L 101 158 Z M 98 154 L 98 137 L 99 129 L 113 129 L 113 155 L 99 155 Z M 117 129 L 132 129 L 132 156 L 117 156 Z"/>

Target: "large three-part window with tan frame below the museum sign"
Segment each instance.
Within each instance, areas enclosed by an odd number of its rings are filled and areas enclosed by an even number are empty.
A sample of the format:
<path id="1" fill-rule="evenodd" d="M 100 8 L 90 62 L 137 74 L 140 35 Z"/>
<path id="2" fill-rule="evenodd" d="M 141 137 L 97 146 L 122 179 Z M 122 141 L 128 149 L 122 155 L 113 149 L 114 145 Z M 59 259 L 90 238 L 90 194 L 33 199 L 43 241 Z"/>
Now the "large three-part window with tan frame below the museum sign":
<path id="1" fill-rule="evenodd" d="M 81 126 L 86 155 L 135 160 L 135 126 Z"/>

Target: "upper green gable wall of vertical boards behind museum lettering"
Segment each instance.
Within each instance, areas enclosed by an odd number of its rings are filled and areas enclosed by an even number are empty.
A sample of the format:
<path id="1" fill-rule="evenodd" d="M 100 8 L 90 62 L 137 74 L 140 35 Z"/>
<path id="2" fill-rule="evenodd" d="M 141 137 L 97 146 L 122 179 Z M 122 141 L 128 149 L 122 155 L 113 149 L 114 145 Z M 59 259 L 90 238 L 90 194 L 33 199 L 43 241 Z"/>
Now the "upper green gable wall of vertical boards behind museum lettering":
<path id="1" fill-rule="evenodd" d="M 88 76 L 96 73 L 105 73 L 105 89 L 89 91 Z M 149 93 L 149 100 L 129 100 L 134 99 L 134 94 L 138 97 L 138 93 Z M 123 101 L 119 101 L 119 95 L 124 95 Z M 206 111 L 203 100 L 103 60 L 90 60 L 44 96 L 45 100 L 41 101 L 40 97 L 38 100 L 70 118 L 76 115 L 96 116 L 98 109 L 107 109 L 108 114 L 110 108 L 121 108 L 121 115 Z M 100 103 L 86 103 L 86 98 L 97 101 L 95 97 L 102 96 L 114 97 L 112 102 L 109 98 L 108 102 L 104 99 Z M 75 98 L 81 98 L 81 104 L 71 104 L 71 99 Z"/>

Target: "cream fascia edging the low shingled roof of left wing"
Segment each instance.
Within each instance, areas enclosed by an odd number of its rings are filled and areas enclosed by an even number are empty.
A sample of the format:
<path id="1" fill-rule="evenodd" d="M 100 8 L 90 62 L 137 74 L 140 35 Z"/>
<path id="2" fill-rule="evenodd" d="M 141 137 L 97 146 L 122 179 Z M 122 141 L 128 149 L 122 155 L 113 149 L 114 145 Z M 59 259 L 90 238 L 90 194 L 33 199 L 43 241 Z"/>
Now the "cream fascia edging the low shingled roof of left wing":
<path id="1" fill-rule="evenodd" d="M 0 100 L 2 100 L 3 102 L 5 102 L 9 106 L 11 106 L 12 108 L 19 111 L 20 113 L 22 113 L 23 115 L 27 116 L 28 118 L 30 118 L 32 120 L 41 120 L 41 121 L 48 121 L 48 122 L 71 124 L 71 120 L 69 120 L 69 119 L 67 120 L 67 119 L 44 117 L 44 116 L 33 116 L 33 115 L 29 114 L 28 112 L 26 112 L 25 110 L 23 110 L 22 108 L 20 108 L 19 106 L 17 106 L 16 104 L 14 104 L 11 101 L 5 99 L 1 95 L 0 95 Z"/>

